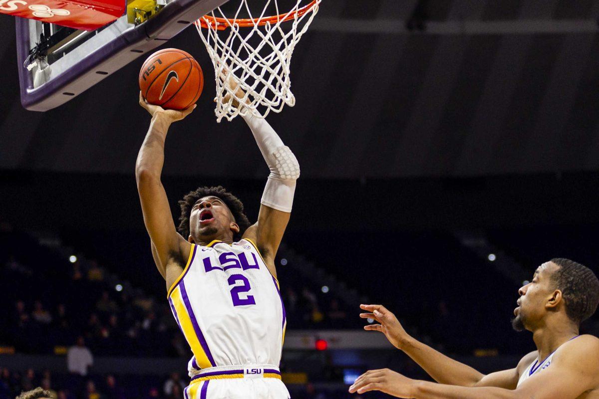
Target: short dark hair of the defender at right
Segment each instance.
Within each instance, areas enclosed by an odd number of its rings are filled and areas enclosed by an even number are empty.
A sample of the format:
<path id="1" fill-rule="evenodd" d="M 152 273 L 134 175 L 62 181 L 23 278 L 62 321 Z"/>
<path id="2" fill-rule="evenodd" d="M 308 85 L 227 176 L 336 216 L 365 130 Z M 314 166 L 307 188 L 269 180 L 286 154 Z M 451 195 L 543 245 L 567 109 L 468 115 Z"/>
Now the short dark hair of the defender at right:
<path id="1" fill-rule="evenodd" d="M 562 291 L 565 312 L 568 317 L 580 324 L 595 313 L 599 304 L 599 279 L 586 266 L 569 259 L 553 258 L 559 269 L 551 279 L 555 287 Z"/>

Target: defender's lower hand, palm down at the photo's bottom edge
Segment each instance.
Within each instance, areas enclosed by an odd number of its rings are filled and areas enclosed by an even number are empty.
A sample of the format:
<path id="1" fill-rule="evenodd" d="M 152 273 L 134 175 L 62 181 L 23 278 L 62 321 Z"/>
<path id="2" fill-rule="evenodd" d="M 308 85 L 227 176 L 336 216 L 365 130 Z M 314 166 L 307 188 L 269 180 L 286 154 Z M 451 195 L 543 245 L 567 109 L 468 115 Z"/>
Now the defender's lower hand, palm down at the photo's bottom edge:
<path id="1" fill-rule="evenodd" d="M 349 392 L 364 394 L 368 391 L 381 391 L 398 398 L 414 398 L 416 380 L 404 377 L 400 373 L 383 368 L 382 370 L 370 370 L 359 376 Z"/>

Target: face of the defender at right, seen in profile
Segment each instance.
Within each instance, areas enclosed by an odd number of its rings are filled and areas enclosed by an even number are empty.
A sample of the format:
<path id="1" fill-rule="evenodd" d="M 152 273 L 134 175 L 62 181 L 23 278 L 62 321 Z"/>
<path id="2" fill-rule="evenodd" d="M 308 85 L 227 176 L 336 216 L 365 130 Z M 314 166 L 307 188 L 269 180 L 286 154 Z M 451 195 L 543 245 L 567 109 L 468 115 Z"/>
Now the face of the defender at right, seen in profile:
<path id="1" fill-rule="evenodd" d="M 536 322 L 543 318 L 547 300 L 555 292 L 551 275 L 557 269 L 558 266 L 553 262 L 541 264 L 534 272 L 533 280 L 518 290 L 520 298 L 518 307 L 514 309 L 516 317 L 512 320 L 515 330 L 531 330 Z"/>

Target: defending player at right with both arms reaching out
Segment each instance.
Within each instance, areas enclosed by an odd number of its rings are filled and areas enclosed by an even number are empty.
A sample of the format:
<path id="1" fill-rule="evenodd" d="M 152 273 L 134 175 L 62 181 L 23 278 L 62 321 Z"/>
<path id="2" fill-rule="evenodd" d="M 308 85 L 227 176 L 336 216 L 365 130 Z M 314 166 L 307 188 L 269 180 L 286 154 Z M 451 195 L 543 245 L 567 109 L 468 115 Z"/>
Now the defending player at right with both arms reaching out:
<path id="1" fill-rule="evenodd" d="M 395 315 L 380 305 L 361 305 L 382 331 L 438 383 L 412 380 L 391 370 L 371 370 L 350 392 L 383 391 L 415 399 L 596 399 L 599 398 L 599 339 L 579 335 L 580 322 L 599 302 L 599 280 L 587 267 L 567 259 L 541 264 L 533 281 L 518 291 L 513 327 L 533 333 L 537 350 L 512 370 L 483 375 L 410 337 Z"/>

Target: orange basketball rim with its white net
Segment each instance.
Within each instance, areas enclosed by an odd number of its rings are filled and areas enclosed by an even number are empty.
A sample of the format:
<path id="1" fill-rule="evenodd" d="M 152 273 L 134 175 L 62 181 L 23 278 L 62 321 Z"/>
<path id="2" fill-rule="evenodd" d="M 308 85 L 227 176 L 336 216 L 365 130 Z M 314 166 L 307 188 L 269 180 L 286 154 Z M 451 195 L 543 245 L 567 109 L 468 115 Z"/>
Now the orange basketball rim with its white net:
<path id="1" fill-rule="evenodd" d="M 216 8 L 194 23 L 214 65 L 214 112 L 219 122 L 223 117 L 231 121 L 248 112 L 264 118 L 270 111 L 280 112 L 285 104 L 294 106 L 289 77 L 291 56 L 320 4 L 320 0 L 316 0 L 300 7 L 301 0 L 297 0 L 292 10 L 280 14 L 277 0 L 267 0 L 261 14 L 254 17 L 247 4 L 249 1 L 241 0 L 233 17 L 226 17 Z M 276 17 L 265 16 L 271 3 L 276 7 Z M 241 10 L 250 18 L 238 19 Z M 227 84 L 230 77 L 245 92 L 243 97 L 235 95 L 237 87 Z"/>

